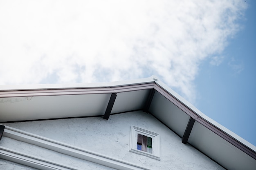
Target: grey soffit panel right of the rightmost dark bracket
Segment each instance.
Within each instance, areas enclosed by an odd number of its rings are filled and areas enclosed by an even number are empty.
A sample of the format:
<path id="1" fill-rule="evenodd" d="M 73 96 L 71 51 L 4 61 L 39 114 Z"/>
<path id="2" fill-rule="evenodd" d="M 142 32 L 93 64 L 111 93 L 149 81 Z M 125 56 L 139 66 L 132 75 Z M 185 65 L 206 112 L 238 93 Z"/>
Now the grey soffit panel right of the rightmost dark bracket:
<path id="1" fill-rule="evenodd" d="M 229 170 L 252 170 L 256 160 L 195 121 L 188 142 Z"/>

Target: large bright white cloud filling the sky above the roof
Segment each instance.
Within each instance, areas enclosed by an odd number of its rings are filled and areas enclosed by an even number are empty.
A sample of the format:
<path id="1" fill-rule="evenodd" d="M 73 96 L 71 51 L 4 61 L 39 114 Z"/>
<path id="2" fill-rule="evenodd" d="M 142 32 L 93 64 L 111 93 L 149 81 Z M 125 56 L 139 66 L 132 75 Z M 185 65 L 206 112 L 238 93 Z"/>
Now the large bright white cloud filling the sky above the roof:
<path id="1" fill-rule="evenodd" d="M 198 65 L 224 49 L 245 5 L 242 0 L 1 1 L 0 84 L 155 74 L 193 101 Z"/>

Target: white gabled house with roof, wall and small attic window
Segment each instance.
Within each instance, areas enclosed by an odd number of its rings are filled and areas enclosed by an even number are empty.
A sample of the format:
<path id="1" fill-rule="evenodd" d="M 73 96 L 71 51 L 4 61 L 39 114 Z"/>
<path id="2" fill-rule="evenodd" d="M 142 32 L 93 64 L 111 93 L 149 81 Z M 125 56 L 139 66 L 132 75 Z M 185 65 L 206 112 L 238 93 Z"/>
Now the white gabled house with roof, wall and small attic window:
<path id="1" fill-rule="evenodd" d="M 156 77 L 0 86 L 0 169 L 255 170 L 256 147 Z"/>

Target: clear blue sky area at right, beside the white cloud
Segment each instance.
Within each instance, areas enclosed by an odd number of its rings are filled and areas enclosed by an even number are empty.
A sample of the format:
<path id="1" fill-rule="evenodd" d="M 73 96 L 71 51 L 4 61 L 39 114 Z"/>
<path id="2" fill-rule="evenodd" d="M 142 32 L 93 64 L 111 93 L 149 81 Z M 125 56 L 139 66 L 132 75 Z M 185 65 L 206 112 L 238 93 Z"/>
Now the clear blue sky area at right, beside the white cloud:
<path id="1" fill-rule="evenodd" d="M 237 34 L 228 40 L 218 66 L 205 60 L 195 79 L 196 106 L 229 130 L 256 145 L 256 1 L 247 1 Z"/>

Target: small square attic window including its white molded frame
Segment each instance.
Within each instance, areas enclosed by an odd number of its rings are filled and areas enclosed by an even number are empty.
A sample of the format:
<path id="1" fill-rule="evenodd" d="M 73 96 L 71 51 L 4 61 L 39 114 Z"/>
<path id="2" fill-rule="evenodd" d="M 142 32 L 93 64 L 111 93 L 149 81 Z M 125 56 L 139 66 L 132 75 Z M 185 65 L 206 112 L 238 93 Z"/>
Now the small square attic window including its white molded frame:
<path id="1" fill-rule="evenodd" d="M 132 126 L 130 151 L 160 160 L 159 134 Z"/>

